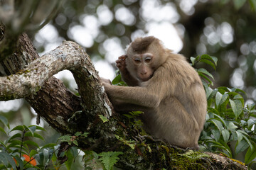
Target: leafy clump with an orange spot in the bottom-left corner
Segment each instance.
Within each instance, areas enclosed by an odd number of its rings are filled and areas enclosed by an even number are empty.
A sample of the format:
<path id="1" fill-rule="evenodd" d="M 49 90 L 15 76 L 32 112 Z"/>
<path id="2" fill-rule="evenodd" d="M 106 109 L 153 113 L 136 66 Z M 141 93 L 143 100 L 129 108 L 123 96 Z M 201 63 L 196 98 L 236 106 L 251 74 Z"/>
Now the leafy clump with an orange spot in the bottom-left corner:
<path id="1" fill-rule="evenodd" d="M 6 140 L 0 141 L 0 162 L 2 163 L 0 169 L 38 169 L 39 166 L 36 166 L 35 156 L 40 154 L 40 151 L 38 152 L 31 148 L 40 148 L 31 138 L 36 137 L 43 140 L 43 137 L 37 131 L 44 129 L 36 125 L 28 127 L 26 125 L 18 125 L 10 130 L 9 123 L 3 116 L 0 116 L 0 122 L 8 130 L 6 132 L 4 128 L 0 128 L 1 132 L 6 135 Z"/>

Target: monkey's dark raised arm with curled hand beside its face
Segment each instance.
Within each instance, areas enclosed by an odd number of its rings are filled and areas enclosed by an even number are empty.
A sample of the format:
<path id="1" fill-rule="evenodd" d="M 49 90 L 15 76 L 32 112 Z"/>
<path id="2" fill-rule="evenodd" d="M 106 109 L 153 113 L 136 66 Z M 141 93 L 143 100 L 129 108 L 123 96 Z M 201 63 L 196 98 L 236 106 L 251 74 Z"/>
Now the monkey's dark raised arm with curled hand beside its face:
<path id="1" fill-rule="evenodd" d="M 139 81 L 137 79 L 134 79 L 134 77 L 131 76 L 131 74 L 128 72 L 125 64 L 127 56 L 122 55 L 118 57 L 118 60 L 116 61 L 116 66 L 121 72 L 121 76 L 124 82 L 127 83 L 128 86 L 139 86 Z"/>

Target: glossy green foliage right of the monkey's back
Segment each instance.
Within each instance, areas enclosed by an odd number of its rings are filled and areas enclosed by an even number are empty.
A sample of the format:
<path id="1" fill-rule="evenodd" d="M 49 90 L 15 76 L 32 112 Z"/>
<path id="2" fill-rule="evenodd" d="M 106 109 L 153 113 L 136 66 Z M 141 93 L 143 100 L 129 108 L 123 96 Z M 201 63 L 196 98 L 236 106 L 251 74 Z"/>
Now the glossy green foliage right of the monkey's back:
<path id="1" fill-rule="evenodd" d="M 193 66 L 197 62 L 204 62 L 215 69 L 217 59 L 202 55 L 191 57 L 191 62 Z M 251 165 L 256 158 L 255 103 L 247 103 L 245 106 L 245 99 L 242 97 L 245 92 L 241 89 L 228 87 L 212 89 L 210 85 L 213 85 L 213 81 L 208 77 L 213 79 L 213 76 L 201 70 L 197 69 L 202 77 L 208 102 L 206 123 L 199 140 L 201 148 L 230 158 L 246 151 L 244 162 Z"/>

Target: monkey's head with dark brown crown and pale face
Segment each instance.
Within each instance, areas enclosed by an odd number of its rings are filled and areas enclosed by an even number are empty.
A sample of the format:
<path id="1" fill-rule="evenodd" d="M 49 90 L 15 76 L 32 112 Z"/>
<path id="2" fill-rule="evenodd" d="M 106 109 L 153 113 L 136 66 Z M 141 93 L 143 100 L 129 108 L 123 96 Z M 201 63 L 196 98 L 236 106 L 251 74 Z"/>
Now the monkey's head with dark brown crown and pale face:
<path id="1" fill-rule="evenodd" d="M 127 47 L 127 70 L 139 81 L 148 81 L 166 61 L 166 50 L 153 36 L 135 39 Z"/>

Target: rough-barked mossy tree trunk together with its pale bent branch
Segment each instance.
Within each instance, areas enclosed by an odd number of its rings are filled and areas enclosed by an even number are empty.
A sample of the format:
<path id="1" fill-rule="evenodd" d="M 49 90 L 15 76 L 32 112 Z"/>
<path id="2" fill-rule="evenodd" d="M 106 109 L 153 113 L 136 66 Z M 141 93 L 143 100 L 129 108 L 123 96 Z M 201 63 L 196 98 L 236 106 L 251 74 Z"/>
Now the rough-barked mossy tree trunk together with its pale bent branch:
<path id="1" fill-rule="evenodd" d="M 25 97 L 55 130 L 63 134 L 89 132 L 86 138 L 78 139 L 81 149 L 122 151 L 124 154 L 117 164 L 122 169 L 247 169 L 216 154 L 192 152 L 191 155 L 189 150 L 139 135 L 134 124 L 129 125 L 130 120 L 112 114 L 111 103 L 90 58 L 75 42 L 63 42 L 38 58 L 23 34 L 15 49 L 12 55 L 1 57 L 4 58 L 0 62 L 1 100 Z M 51 77 L 62 69 L 73 72 L 80 97 Z"/>

